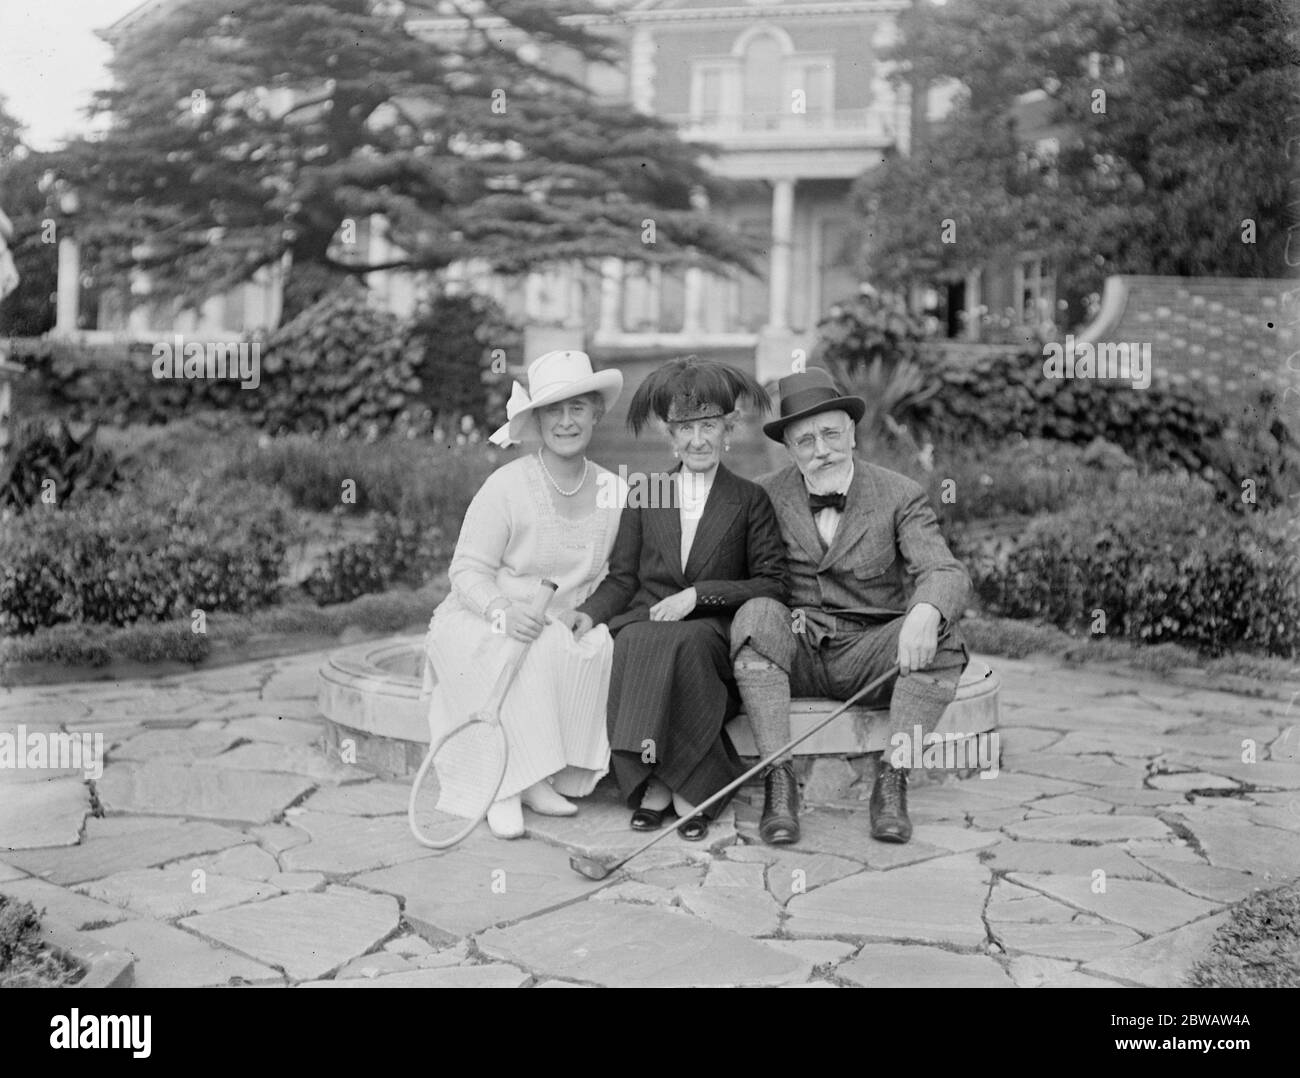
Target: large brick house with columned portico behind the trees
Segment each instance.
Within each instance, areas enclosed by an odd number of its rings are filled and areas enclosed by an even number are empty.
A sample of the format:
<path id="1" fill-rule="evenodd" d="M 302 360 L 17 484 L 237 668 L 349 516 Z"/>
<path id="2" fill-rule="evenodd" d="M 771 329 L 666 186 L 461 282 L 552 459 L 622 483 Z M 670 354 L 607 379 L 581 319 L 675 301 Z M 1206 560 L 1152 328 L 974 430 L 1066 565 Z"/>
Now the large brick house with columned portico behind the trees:
<path id="1" fill-rule="evenodd" d="M 599 273 L 556 265 L 524 278 L 456 265 L 443 286 L 495 295 L 528 328 L 529 348 L 582 346 L 616 360 L 663 351 L 753 356 L 762 375 L 788 369 L 809 347 L 822 312 L 858 285 L 853 181 L 897 147 L 911 122 L 878 56 L 910 0 L 632 0 L 610 3 L 599 30 L 623 46 L 618 66 L 588 65 L 592 88 L 671 118 L 686 139 L 722 152 L 712 168 L 749 181 L 708 212 L 766 250 L 760 276 L 720 277 L 607 260 Z M 148 0 L 104 31 L 118 40 L 166 7 Z M 425 5 L 432 7 L 432 5 Z M 411 9 L 420 35 L 458 33 L 456 20 Z M 556 59 L 556 62 L 564 62 Z M 571 61 L 569 61 L 571 62 Z M 382 220 L 359 222 L 361 256 L 382 260 L 400 237 Z M 372 290 L 407 312 L 433 282 L 370 274 Z M 105 296 L 98 329 L 148 337 L 176 329 L 238 335 L 278 317 L 277 274 L 177 312 L 148 300 L 146 281 Z M 92 316 L 94 317 L 94 316 Z M 84 319 L 83 319 L 84 321 Z M 62 325 L 62 330 L 73 326 Z M 754 362 L 754 360 L 751 360 Z"/>

